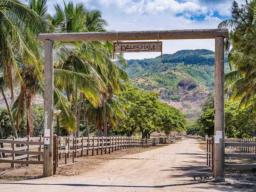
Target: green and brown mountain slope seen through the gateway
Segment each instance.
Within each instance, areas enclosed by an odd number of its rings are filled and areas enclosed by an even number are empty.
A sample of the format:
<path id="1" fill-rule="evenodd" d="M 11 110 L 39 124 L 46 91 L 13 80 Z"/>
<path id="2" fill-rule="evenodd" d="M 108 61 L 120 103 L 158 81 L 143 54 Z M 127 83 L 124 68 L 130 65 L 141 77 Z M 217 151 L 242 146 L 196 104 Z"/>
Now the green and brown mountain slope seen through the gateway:
<path id="1" fill-rule="evenodd" d="M 128 60 L 127 63 L 125 70 L 133 85 L 158 91 L 162 101 L 181 109 L 187 117 L 200 114 L 200 103 L 214 88 L 214 52 L 211 50 L 180 50 L 163 54 L 163 59 Z"/>

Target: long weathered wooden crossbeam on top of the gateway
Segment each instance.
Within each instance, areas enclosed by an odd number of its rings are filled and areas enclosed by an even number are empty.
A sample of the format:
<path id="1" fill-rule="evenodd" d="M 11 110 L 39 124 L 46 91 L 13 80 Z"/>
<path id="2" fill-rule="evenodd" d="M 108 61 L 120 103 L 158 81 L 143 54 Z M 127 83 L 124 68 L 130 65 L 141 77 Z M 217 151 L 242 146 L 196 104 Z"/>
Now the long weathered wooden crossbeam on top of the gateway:
<path id="1" fill-rule="evenodd" d="M 156 39 L 214 39 L 229 37 L 228 29 L 184 29 L 159 31 L 117 31 L 86 33 L 43 33 L 38 35 L 39 41 L 129 41 Z"/>

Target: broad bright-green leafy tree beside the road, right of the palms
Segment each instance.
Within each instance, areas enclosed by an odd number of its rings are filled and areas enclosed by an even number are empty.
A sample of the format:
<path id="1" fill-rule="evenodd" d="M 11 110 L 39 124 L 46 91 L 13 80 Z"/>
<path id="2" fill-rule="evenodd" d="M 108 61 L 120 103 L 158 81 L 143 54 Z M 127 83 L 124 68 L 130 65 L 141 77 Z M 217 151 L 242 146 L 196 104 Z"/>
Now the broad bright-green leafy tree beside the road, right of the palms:
<path id="1" fill-rule="evenodd" d="M 119 120 L 114 131 L 118 134 L 131 136 L 140 131 L 143 138 L 150 138 L 150 134 L 160 129 L 167 135 L 170 131 L 185 128 L 185 116 L 171 106 L 158 100 L 156 92 L 138 90 L 126 84 L 125 91 L 120 94 L 129 102 L 126 116 Z"/>

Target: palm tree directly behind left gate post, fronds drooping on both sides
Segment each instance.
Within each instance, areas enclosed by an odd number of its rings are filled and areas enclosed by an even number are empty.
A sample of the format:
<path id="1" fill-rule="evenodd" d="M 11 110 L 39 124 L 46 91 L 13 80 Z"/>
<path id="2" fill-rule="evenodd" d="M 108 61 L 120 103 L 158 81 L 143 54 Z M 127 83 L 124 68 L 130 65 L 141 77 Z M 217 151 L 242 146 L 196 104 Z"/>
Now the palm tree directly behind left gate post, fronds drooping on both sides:
<path id="1" fill-rule="evenodd" d="M 38 5 L 39 4 L 39 5 Z M 46 15 L 47 7 L 45 1 L 30 1 L 29 7 L 35 9 L 34 11 L 39 11 L 37 14 L 41 15 L 44 19 L 48 17 Z M 54 29 L 52 26 L 48 26 L 45 30 Z M 21 86 L 21 91 L 18 99 L 15 101 L 13 105 L 13 111 L 16 118 L 16 126 L 18 127 L 20 121 L 24 116 L 27 118 L 27 134 L 33 136 L 33 125 L 31 118 L 31 101 L 35 97 L 35 95 L 43 95 L 44 93 L 44 56 L 43 54 L 43 45 L 37 41 L 37 34 L 40 32 L 37 29 L 33 31 L 36 35 L 34 39 L 28 39 L 27 44 L 28 47 L 33 51 L 36 58 L 39 58 L 36 62 L 34 62 L 33 66 L 27 64 L 28 58 L 26 55 L 24 56 L 23 62 L 20 63 L 20 70 L 22 71 L 22 79 L 23 84 Z M 54 52 L 53 52 L 53 61 L 54 66 L 58 67 L 63 63 L 70 60 L 74 54 L 77 53 L 78 47 L 75 44 L 71 43 L 63 43 L 57 42 L 54 44 Z M 76 63 L 74 63 L 76 65 Z M 54 108 L 60 109 L 61 113 L 59 114 L 57 120 L 61 122 L 63 126 L 65 126 L 69 131 L 73 131 L 75 129 L 75 116 L 71 113 L 69 108 L 70 104 L 66 101 L 66 98 L 62 94 L 63 90 L 63 79 L 66 79 L 65 82 L 69 84 L 84 84 L 89 88 L 85 88 L 86 91 L 94 91 L 95 86 L 98 86 L 97 75 L 91 73 L 90 68 L 89 72 L 86 74 L 80 74 L 77 72 L 72 72 L 69 70 L 65 70 L 63 68 L 54 69 Z M 26 115 L 25 115 L 26 114 Z M 59 122 L 58 126 L 59 126 Z"/>

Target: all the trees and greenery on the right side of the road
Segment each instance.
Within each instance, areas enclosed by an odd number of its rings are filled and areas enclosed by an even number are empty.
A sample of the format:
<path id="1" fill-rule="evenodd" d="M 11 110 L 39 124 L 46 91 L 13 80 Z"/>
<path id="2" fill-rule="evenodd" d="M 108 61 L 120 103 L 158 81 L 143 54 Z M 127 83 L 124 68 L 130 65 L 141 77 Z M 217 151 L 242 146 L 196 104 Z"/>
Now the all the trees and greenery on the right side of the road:
<path id="1" fill-rule="evenodd" d="M 232 4 L 232 18 L 219 28 L 229 28 L 225 51 L 230 72 L 225 74 L 225 135 L 230 138 L 256 137 L 256 1 Z M 241 38 L 242 37 L 242 38 Z M 203 114 L 187 132 L 214 135 L 214 93 L 201 105 Z M 198 129 L 200 128 L 200 129 Z M 197 130 L 197 132 L 195 132 Z"/>

